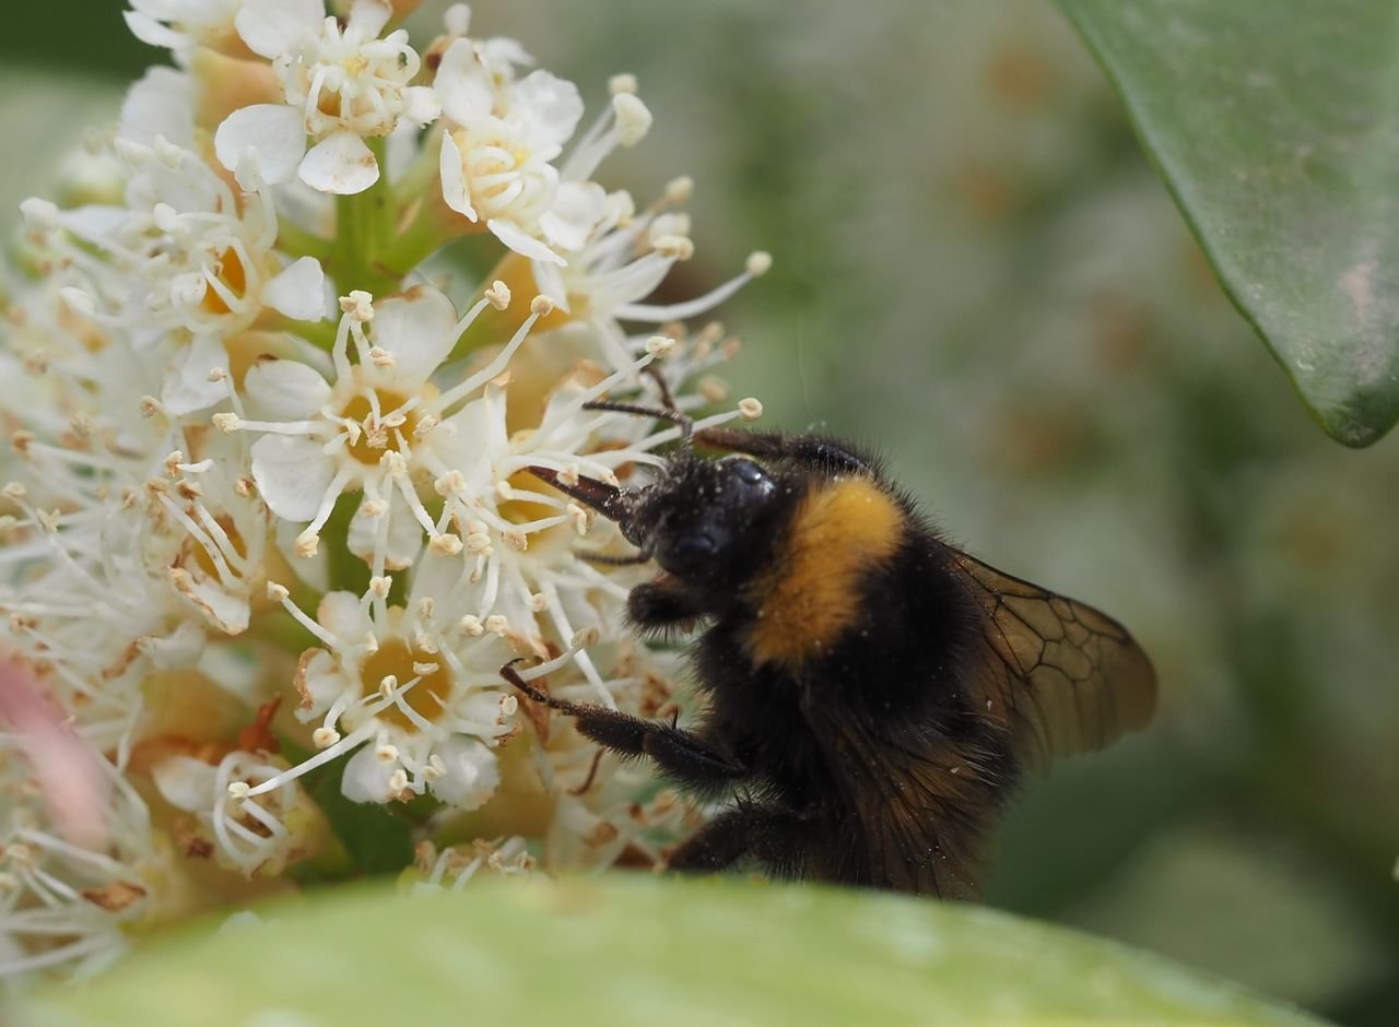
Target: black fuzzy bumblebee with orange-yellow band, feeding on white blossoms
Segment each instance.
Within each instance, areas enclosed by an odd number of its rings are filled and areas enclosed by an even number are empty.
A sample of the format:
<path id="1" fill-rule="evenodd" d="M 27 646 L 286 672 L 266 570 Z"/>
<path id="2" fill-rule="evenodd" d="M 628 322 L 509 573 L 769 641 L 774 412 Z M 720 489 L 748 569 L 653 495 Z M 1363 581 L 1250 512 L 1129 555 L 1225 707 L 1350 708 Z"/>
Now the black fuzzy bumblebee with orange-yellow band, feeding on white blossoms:
<path id="1" fill-rule="evenodd" d="M 729 798 L 674 870 L 769 873 L 933 895 L 977 890 L 988 833 L 1025 768 L 1101 749 L 1156 705 L 1151 663 L 1090 606 L 944 541 L 879 462 L 811 434 L 711 428 L 673 407 L 681 446 L 648 484 L 532 473 L 616 520 L 659 564 L 627 610 L 644 635 L 702 630 L 691 728 L 569 702 L 623 757 Z M 720 459 L 695 452 L 727 451 Z"/>

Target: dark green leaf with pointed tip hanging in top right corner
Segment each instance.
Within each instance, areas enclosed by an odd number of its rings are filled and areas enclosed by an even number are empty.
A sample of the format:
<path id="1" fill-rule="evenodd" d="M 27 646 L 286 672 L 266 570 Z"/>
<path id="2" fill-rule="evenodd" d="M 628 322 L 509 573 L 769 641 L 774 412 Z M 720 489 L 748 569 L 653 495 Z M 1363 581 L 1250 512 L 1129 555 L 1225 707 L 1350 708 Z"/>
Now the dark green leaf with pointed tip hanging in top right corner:
<path id="1" fill-rule="evenodd" d="M 1058 0 L 1332 438 L 1399 420 L 1399 6 Z"/>

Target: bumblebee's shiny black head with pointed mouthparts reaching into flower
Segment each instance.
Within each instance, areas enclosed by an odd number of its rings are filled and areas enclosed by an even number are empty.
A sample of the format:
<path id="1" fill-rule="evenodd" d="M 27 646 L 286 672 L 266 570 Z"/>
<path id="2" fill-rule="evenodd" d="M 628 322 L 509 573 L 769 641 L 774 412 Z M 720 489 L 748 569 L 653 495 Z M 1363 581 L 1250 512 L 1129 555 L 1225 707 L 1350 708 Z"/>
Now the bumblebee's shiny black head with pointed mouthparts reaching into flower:
<path id="1" fill-rule="evenodd" d="M 639 550 L 627 562 L 655 557 L 667 574 L 706 588 L 733 586 L 753 574 L 782 494 L 776 477 L 744 456 L 706 460 L 686 452 L 637 490 L 582 477 L 564 483 L 546 467 L 530 472 L 616 520 Z"/>

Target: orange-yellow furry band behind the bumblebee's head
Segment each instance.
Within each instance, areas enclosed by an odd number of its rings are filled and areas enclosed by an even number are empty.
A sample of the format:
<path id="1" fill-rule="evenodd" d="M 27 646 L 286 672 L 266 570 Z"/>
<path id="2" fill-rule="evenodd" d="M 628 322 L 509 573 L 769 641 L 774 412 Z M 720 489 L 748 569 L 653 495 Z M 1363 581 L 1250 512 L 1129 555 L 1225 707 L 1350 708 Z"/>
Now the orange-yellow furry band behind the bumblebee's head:
<path id="1" fill-rule="evenodd" d="M 797 670 L 830 652 L 856 624 L 865 582 L 897 557 L 907 532 L 908 514 L 873 479 L 813 486 L 748 586 L 743 644 L 753 663 Z"/>

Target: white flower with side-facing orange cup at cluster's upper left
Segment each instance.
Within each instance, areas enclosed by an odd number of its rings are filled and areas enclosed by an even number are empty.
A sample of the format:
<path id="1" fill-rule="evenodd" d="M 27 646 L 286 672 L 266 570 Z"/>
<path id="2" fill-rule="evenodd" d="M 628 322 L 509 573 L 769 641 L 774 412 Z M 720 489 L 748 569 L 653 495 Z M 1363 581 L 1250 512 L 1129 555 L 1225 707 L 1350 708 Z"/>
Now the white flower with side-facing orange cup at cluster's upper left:
<path id="1" fill-rule="evenodd" d="M 118 140 L 118 153 L 132 172 L 125 207 L 27 200 L 22 210 L 71 262 L 81 283 L 66 292 L 74 311 L 137 351 L 159 351 L 164 360 L 151 362 L 168 362 L 161 402 L 169 413 L 200 410 L 227 393 L 211 378 L 228 367 L 225 340 L 264 311 L 319 319 L 323 273 L 313 257 L 287 263 L 274 252 L 277 215 L 264 186 L 235 196 L 199 157 L 164 141 Z"/>

